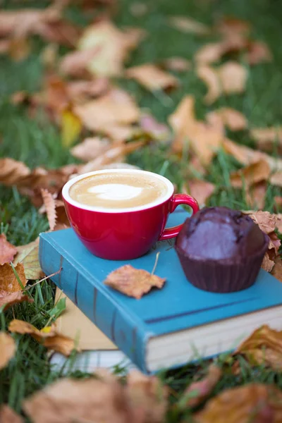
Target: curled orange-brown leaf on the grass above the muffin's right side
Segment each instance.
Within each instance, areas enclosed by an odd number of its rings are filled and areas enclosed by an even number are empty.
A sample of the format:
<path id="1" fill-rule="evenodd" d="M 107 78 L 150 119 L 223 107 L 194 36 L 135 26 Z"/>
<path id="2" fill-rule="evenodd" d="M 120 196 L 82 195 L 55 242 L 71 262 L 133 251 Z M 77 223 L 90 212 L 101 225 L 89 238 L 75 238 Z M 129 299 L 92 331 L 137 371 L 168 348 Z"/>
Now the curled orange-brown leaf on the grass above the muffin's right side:
<path id="1" fill-rule="evenodd" d="M 231 185 L 235 188 L 242 188 L 244 185 L 250 187 L 255 183 L 268 180 L 270 176 L 270 167 L 267 161 L 260 159 L 254 163 L 248 164 L 245 168 L 231 173 Z"/>

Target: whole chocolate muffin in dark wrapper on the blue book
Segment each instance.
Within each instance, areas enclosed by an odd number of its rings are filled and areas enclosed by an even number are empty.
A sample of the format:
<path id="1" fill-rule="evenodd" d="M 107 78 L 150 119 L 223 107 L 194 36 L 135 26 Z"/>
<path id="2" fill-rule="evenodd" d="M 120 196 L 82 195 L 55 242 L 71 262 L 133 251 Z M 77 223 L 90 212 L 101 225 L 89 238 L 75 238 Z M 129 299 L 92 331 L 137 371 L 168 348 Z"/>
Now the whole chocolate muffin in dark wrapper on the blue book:
<path id="1" fill-rule="evenodd" d="M 204 207 L 185 221 L 175 247 L 190 283 L 231 293 L 255 283 L 268 245 L 268 236 L 249 216 L 228 207 Z"/>

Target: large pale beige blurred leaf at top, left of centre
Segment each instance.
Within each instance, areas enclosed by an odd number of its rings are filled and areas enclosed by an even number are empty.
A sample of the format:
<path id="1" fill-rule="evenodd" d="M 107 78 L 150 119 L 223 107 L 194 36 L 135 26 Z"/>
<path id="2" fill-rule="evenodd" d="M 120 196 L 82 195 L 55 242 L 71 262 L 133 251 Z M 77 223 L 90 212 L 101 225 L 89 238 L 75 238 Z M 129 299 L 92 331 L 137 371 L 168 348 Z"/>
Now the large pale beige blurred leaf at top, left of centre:
<path id="1" fill-rule="evenodd" d="M 95 76 L 118 76 L 129 52 L 144 36 L 145 32 L 137 28 L 121 31 L 109 20 L 102 20 L 86 28 L 78 42 L 78 49 L 97 50 L 94 57 L 87 61 L 87 71 Z"/>

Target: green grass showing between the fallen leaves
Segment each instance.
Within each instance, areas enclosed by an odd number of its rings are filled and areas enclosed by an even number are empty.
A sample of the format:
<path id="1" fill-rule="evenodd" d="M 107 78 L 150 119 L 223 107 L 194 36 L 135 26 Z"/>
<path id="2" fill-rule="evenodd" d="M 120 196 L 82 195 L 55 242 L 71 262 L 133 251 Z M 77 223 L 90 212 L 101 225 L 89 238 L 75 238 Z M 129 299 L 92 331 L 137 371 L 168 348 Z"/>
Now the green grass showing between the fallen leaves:
<path id="1" fill-rule="evenodd" d="M 32 1 L 5 1 L 7 8 L 37 6 Z M 264 40 L 274 54 L 272 63 L 260 64 L 250 69 L 247 90 L 241 95 L 221 97 L 212 107 L 204 106 L 204 84 L 197 79 L 194 71 L 178 74 L 181 88 L 170 94 L 151 94 L 137 85 L 134 81 L 119 80 L 118 83 L 133 93 L 138 104 L 143 109 L 149 109 L 160 121 L 166 118 L 176 108 L 183 94 L 192 94 L 196 99 L 196 111 L 199 118 L 203 118 L 207 111 L 220 106 L 231 106 L 243 111 L 250 123 L 250 127 L 276 125 L 281 123 L 282 97 L 282 52 L 279 40 L 282 38 L 282 9 L 278 1 L 274 0 L 146 0 L 147 15 L 135 18 L 130 13 L 133 1 L 123 0 L 119 4 L 116 23 L 144 27 L 148 32 L 147 39 L 142 42 L 128 61 L 129 66 L 144 62 L 161 61 L 170 56 L 183 56 L 192 59 L 195 51 L 208 41 L 207 37 L 184 35 L 166 25 L 169 15 L 188 15 L 211 24 L 214 18 L 227 14 L 250 20 L 253 24 L 253 35 Z M 42 6 L 42 4 L 41 4 Z M 86 24 L 87 19 L 78 15 L 77 9 L 67 12 L 70 18 Z M 90 20 L 91 16 L 88 17 Z M 61 147 L 59 130 L 52 125 L 46 116 L 29 118 L 24 106 L 13 106 L 10 96 L 18 90 L 35 92 L 42 82 L 42 63 L 39 52 L 44 42 L 39 39 L 32 41 L 32 54 L 23 62 L 15 63 L 6 56 L 0 57 L 0 157 L 13 157 L 25 161 L 31 168 L 47 166 L 56 168 L 73 161 L 67 149 Z M 62 49 L 63 51 L 63 49 Z M 236 142 L 252 146 L 252 140 L 247 133 L 230 134 Z M 169 156 L 165 148 L 158 145 L 145 147 L 135 152 L 129 158 L 147 170 L 163 173 L 171 178 L 180 188 L 185 181 L 188 161 L 176 161 Z M 243 192 L 231 188 L 229 173 L 238 168 L 238 163 L 221 152 L 209 168 L 207 179 L 216 184 L 216 192 L 212 196 L 210 205 L 227 205 L 237 209 L 246 209 L 247 204 Z M 273 211 L 274 195 L 281 195 L 278 188 L 269 186 L 265 209 Z M 8 240 L 16 245 L 23 245 L 35 239 L 39 232 L 46 231 L 47 219 L 38 214 L 37 209 L 29 200 L 21 197 L 16 188 L 0 187 L 0 221 L 1 232 L 5 232 Z M 13 310 L 1 313 L 1 330 L 7 328 L 13 319 L 13 313 L 18 319 L 24 319 L 41 328 L 48 319 L 47 311 L 54 305 L 54 286 L 44 281 L 30 290 L 35 298 L 34 304 L 22 304 Z M 47 361 L 46 350 L 27 336 L 15 336 L 18 345 L 16 357 L 11 360 L 6 369 L 0 372 L 0 402 L 8 403 L 17 412 L 23 398 L 44 385 L 54 381 L 59 374 L 51 372 Z M 219 362 L 226 362 L 226 357 L 219 357 Z M 228 360 L 227 360 L 228 361 Z M 196 372 L 204 374 L 207 362 L 200 362 L 197 366 L 188 364 L 174 372 L 161 374 L 176 392 L 171 397 L 172 403 L 178 403 L 180 394 L 192 380 Z M 227 365 L 224 376 L 216 386 L 214 394 L 225 388 L 245 384 L 247 381 L 274 382 L 282 388 L 281 374 L 276 374 L 264 367 L 250 367 L 241 360 L 242 372 L 240 376 L 231 373 L 231 362 Z M 79 375 L 77 375 L 79 376 Z M 80 375 L 82 376 L 82 375 Z M 189 412 L 186 412 L 189 417 Z M 174 409 L 168 414 L 169 422 L 179 422 L 182 412 Z M 187 420 L 186 420 L 187 421 Z"/>

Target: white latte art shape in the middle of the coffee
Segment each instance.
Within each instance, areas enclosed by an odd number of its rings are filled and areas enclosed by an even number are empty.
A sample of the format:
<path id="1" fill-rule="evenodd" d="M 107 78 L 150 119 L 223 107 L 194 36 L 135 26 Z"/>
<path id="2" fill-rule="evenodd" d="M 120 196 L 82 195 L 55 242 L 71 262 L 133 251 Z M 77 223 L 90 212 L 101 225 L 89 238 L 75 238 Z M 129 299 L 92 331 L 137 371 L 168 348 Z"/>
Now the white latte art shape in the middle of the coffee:
<path id="1" fill-rule="evenodd" d="M 143 188 L 123 185 L 121 183 L 105 183 L 104 185 L 96 185 L 88 188 L 88 192 L 96 194 L 98 198 L 103 200 L 130 200 L 137 197 Z"/>

